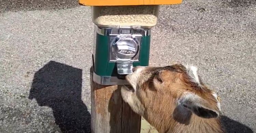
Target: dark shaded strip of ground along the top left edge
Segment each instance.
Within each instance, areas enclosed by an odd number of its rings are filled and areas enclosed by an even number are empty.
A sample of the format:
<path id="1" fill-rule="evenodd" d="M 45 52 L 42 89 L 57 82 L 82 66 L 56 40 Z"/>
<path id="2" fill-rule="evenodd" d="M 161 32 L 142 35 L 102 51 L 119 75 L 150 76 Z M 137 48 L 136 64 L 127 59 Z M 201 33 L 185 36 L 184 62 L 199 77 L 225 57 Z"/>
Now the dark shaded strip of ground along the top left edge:
<path id="1" fill-rule="evenodd" d="M 0 3 L 0 13 L 24 10 L 60 10 L 80 6 L 78 0 L 0 0 Z"/>

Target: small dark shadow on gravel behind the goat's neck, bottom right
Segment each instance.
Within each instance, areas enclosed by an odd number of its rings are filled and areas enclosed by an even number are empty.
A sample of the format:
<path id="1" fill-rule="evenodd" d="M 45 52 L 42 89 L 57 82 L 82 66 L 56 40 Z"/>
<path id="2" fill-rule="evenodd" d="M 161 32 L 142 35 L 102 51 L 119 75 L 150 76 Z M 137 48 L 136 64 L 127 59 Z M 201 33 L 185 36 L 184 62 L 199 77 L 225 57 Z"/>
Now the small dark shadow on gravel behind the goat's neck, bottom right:
<path id="1" fill-rule="evenodd" d="M 253 130 L 240 122 L 232 120 L 227 116 L 221 117 L 226 133 L 253 133 Z"/>

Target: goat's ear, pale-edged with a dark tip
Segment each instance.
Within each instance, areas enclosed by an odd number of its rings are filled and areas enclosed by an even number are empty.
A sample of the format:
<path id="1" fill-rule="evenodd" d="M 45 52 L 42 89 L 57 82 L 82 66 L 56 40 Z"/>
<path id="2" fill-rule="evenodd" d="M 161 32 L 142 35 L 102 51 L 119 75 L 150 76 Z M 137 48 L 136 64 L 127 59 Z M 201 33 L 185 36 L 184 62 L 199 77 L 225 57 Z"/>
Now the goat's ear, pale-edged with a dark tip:
<path id="1" fill-rule="evenodd" d="M 219 111 L 214 109 L 214 105 L 209 104 L 209 102 L 196 94 L 188 93 L 183 95 L 179 100 L 179 104 L 202 118 L 216 118 L 219 116 Z"/>

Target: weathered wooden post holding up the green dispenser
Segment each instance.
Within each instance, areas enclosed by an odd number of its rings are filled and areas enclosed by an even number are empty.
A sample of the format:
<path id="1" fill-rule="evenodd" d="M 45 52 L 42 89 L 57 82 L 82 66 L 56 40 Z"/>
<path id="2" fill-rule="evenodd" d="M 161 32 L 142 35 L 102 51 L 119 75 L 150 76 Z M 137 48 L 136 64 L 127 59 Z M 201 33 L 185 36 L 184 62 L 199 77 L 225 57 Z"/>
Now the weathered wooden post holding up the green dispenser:
<path id="1" fill-rule="evenodd" d="M 140 133 L 141 116 L 122 99 L 121 86 L 103 86 L 91 79 L 91 133 Z"/>

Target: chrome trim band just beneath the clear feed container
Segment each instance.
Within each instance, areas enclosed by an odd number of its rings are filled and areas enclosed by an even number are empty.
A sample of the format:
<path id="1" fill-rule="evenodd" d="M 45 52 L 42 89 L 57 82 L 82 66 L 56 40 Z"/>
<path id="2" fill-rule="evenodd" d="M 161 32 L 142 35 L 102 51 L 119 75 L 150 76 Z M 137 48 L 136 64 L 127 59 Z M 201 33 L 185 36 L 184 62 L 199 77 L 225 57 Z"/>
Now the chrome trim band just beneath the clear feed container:
<path id="1" fill-rule="evenodd" d="M 102 36 L 109 35 L 141 35 L 141 36 L 150 36 L 151 29 L 145 29 L 141 27 L 99 27 L 95 24 L 95 30 L 98 34 Z"/>

